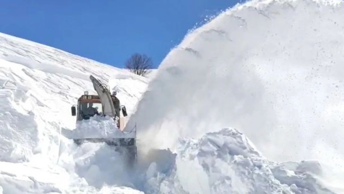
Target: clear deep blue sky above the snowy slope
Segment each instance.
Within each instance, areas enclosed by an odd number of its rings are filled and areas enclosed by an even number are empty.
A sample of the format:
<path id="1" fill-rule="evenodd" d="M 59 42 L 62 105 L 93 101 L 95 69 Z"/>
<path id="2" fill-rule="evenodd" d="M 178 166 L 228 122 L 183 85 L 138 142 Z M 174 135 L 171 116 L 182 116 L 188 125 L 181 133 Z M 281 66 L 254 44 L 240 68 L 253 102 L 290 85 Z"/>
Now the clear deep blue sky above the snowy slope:
<path id="1" fill-rule="evenodd" d="M 0 32 L 123 67 L 132 53 L 156 68 L 197 22 L 235 0 L 1 0 Z"/>

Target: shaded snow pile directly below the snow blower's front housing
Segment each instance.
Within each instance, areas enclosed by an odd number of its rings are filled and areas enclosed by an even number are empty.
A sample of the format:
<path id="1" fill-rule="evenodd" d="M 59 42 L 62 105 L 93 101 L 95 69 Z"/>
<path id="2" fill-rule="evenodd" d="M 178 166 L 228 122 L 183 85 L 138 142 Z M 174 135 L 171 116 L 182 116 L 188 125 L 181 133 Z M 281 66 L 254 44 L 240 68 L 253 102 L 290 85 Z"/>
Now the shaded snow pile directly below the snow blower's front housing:
<path id="1" fill-rule="evenodd" d="M 122 155 L 106 143 L 70 146 L 61 154 L 58 165 L 85 179 L 87 186 L 132 186 Z"/>

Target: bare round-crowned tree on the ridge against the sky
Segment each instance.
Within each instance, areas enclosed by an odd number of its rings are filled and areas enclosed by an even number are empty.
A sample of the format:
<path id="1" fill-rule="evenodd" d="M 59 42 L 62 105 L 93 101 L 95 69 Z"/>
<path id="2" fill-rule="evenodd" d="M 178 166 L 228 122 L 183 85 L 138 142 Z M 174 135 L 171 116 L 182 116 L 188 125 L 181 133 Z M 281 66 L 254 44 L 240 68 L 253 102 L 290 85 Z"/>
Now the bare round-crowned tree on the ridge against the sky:
<path id="1" fill-rule="evenodd" d="M 146 76 L 152 69 L 152 59 L 145 54 L 135 53 L 126 61 L 126 68 L 130 72 Z"/>

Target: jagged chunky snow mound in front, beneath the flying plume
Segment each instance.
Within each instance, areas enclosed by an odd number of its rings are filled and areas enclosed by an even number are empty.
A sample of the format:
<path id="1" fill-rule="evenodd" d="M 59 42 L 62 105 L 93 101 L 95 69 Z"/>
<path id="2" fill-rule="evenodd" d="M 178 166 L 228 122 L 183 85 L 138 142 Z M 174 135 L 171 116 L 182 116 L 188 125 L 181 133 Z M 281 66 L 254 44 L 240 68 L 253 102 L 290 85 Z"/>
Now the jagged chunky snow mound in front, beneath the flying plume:
<path id="1" fill-rule="evenodd" d="M 321 174 L 319 163 L 270 162 L 233 128 L 182 138 L 170 170 L 159 170 L 159 163 L 145 174 L 146 193 L 334 194 L 311 175 Z"/>

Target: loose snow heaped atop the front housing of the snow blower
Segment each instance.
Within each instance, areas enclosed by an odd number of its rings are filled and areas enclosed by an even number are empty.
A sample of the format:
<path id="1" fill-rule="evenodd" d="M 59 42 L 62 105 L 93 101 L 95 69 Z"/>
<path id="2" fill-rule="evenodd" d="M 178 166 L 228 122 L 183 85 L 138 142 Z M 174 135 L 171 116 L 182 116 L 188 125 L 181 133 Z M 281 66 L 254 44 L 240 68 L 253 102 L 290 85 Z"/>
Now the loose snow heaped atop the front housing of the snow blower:
<path id="1" fill-rule="evenodd" d="M 125 133 L 118 129 L 117 122 L 110 116 L 95 115 L 89 120 L 76 124 L 74 130 L 62 129 L 62 134 L 68 139 L 83 138 L 134 138 L 135 132 Z"/>

